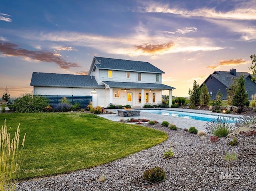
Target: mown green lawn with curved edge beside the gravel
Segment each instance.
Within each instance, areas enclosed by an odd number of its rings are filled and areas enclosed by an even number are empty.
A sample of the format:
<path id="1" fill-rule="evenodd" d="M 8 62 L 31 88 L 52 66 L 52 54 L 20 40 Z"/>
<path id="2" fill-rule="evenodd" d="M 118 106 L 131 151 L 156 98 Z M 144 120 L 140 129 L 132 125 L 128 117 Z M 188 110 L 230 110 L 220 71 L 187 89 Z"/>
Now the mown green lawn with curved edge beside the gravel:
<path id="1" fill-rule="evenodd" d="M 117 123 L 85 113 L 9 113 L 0 122 L 20 144 L 26 133 L 20 179 L 94 167 L 150 148 L 167 134 L 139 125 Z"/>

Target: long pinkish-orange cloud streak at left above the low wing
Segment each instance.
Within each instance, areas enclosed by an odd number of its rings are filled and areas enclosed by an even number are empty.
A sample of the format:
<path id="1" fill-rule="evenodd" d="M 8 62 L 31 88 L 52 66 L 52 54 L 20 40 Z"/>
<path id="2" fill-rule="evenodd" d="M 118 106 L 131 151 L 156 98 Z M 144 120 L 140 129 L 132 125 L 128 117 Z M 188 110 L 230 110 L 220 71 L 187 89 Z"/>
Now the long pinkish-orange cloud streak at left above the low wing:
<path id="1" fill-rule="evenodd" d="M 71 67 L 80 67 L 77 63 L 67 62 L 63 58 L 60 58 L 56 53 L 48 51 L 31 51 L 18 48 L 19 46 L 13 43 L 0 42 L 0 52 L 3 55 L 27 57 L 36 61 L 42 62 L 54 62 L 62 69 L 70 69 Z"/>

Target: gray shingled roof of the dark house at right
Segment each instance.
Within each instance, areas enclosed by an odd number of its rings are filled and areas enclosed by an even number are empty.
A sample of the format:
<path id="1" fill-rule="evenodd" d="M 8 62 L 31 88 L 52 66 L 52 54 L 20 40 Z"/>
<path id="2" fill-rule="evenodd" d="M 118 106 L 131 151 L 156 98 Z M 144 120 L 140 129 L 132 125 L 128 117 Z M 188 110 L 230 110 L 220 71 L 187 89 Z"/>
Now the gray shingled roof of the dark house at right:
<path id="1" fill-rule="evenodd" d="M 246 79 L 248 76 L 250 76 L 250 73 L 248 72 L 236 72 L 236 76 L 232 75 L 230 71 L 214 71 L 213 74 L 210 76 L 216 78 L 218 81 L 223 83 L 227 88 L 232 85 L 233 80 L 232 79 L 237 79 L 241 75 L 244 76 L 244 79 Z"/>

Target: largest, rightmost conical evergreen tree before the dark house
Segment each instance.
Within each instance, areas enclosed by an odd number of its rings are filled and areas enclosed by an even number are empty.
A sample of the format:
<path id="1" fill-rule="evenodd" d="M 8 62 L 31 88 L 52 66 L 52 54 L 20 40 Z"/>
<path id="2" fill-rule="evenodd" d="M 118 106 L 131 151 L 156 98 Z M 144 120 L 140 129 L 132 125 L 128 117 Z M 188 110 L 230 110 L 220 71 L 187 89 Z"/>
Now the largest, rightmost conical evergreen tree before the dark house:
<path id="1" fill-rule="evenodd" d="M 233 97 L 232 104 L 240 107 L 238 112 L 242 112 L 243 108 L 248 104 L 248 95 L 245 91 L 244 76 L 240 76 L 237 80 L 237 89 Z"/>

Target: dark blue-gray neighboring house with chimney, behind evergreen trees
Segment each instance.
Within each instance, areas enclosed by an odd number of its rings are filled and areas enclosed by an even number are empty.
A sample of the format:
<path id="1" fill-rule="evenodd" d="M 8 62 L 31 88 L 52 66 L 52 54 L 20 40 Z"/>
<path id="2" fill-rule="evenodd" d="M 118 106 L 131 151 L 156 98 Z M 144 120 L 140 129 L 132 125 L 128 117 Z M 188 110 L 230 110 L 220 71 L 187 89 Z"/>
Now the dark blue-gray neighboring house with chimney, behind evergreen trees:
<path id="1" fill-rule="evenodd" d="M 250 99 L 252 94 L 256 94 L 256 83 L 251 80 L 252 75 L 248 72 L 236 72 L 236 69 L 230 69 L 227 71 L 214 71 L 213 74 L 204 81 L 208 87 L 211 99 L 216 99 L 217 91 L 223 94 L 222 99 L 227 99 L 227 89 L 230 89 L 230 85 L 233 83 L 233 79 L 238 79 L 240 76 L 244 76 L 245 90 L 248 93 L 248 98 Z M 202 85 L 200 86 L 202 87 Z"/>

